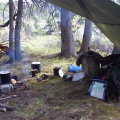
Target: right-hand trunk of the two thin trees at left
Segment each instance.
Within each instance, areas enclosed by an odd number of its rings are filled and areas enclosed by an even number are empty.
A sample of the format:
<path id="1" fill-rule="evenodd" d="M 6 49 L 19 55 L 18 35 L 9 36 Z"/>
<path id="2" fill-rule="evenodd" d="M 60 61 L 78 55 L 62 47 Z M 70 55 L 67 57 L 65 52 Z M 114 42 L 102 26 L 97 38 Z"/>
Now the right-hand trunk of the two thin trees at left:
<path id="1" fill-rule="evenodd" d="M 23 12 L 23 0 L 19 0 L 17 20 L 16 20 L 16 26 L 15 26 L 15 59 L 16 61 L 19 61 L 21 59 L 20 30 L 21 30 L 22 12 Z"/>

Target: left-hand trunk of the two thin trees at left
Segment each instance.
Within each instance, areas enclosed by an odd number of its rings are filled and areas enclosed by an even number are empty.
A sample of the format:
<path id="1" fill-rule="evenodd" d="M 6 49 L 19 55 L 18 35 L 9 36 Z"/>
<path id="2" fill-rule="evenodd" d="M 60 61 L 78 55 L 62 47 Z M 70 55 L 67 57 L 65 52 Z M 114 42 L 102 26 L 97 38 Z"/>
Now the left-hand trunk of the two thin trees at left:
<path id="1" fill-rule="evenodd" d="M 14 54 L 14 45 L 13 45 L 13 0 L 9 0 L 9 60 L 11 63 L 15 61 L 15 54 Z"/>

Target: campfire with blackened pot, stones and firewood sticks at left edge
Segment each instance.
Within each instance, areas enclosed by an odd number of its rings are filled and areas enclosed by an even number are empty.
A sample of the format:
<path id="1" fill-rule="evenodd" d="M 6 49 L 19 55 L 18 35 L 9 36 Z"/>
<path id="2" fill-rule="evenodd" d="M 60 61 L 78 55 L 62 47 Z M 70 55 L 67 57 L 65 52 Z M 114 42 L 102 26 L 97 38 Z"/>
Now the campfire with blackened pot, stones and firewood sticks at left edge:
<path id="1" fill-rule="evenodd" d="M 0 92 L 2 94 L 9 94 L 14 89 L 25 90 L 29 89 L 29 87 L 24 82 L 18 81 L 17 75 L 11 76 L 10 71 L 0 71 Z M 15 97 L 17 95 L 2 97 L 0 101 Z M 7 110 L 15 110 L 15 107 L 0 103 L 0 111 L 6 112 Z"/>

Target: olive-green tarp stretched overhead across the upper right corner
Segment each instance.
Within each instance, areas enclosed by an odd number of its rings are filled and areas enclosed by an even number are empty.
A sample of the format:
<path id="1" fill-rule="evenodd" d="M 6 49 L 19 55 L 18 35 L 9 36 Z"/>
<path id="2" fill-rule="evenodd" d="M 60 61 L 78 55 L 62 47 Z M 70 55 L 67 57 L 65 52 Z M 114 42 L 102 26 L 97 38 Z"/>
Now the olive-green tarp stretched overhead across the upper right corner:
<path id="1" fill-rule="evenodd" d="M 120 49 L 120 6 L 111 0 L 45 0 L 91 20 Z"/>

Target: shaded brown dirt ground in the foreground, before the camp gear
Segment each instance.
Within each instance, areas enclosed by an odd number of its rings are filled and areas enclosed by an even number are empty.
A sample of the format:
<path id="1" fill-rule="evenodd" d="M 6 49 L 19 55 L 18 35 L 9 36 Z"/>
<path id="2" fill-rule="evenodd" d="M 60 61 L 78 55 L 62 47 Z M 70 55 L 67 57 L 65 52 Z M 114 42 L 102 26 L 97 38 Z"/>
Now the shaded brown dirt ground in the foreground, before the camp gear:
<path id="1" fill-rule="evenodd" d="M 119 103 L 107 103 L 86 95 L 91 84 L 89 79 L 72 82 L 49 75 L 48 79 L 38 82 L 36 77 L 29 76 L 26 84 L 29 90 L 15 89 L 9 95 L 17 95 L 16 98 L 1 101 L 16 110 L 0 112 L 0 120 L 120 119 Z"/>

